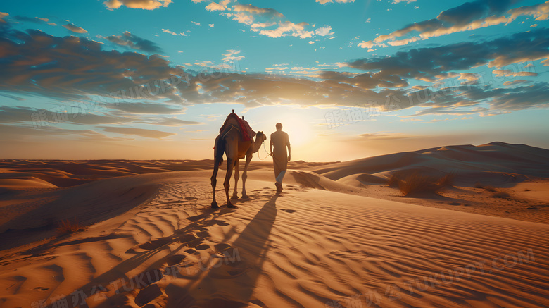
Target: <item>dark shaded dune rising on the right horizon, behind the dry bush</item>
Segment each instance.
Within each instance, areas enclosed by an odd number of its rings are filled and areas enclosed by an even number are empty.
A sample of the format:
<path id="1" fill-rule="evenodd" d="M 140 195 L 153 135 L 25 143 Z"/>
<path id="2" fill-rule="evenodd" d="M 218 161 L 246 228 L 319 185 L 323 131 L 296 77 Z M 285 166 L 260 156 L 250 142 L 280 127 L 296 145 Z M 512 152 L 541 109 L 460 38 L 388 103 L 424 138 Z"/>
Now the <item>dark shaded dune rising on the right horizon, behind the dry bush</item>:
<path id="1" fill-rule="evenodd" d="M 396 171 L 441 175 L 456 173 L 461 185 L 472 187 L 479 180 L 487 184 L 515 183 L 529 178 L 549 178 L 549 150 L 525 144 L 448 146 L 346 161 L 311 168 L 320 175 L 339 180 L 352 174 L 387 178 Z"/>

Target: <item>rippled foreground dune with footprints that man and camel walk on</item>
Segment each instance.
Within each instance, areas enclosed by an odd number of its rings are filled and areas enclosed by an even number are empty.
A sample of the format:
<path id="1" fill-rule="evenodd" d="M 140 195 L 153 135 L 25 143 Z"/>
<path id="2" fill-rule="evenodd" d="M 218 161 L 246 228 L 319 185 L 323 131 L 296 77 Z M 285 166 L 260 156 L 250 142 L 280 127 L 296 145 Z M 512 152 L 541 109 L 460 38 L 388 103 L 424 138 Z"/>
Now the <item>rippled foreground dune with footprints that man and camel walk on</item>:
<path id="1" fill-rule="evenodd" d="M 207 181 L 179 173 L 127 219 L 6 256 L 3 307 L 92 292 L 89 307 L 546 304 L 545 224 L 248 185 L 251 201 L 210 211 Z"/>

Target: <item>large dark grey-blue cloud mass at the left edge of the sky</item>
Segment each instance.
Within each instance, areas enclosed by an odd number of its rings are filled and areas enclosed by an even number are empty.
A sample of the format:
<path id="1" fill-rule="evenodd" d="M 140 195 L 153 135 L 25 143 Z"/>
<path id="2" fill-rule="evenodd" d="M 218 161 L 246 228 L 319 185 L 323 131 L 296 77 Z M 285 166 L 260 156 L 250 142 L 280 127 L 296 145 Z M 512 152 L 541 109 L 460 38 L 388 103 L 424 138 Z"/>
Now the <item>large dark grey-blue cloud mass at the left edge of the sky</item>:
<path id="1" fill-rule="evenodd" d="M 39 30 L 0 27 L 0 37 L 0 90 L 69 101 L 111 97 L 120 90 L 134 97 L 128 92 L 139 90 L 151 99 L 181 101 L 171 86 L 159 91 L 158 80 L 184 76 L 184 70 L 160 56 L 103 51 L 103 44 L 85 37 L 54 37 Z"/>

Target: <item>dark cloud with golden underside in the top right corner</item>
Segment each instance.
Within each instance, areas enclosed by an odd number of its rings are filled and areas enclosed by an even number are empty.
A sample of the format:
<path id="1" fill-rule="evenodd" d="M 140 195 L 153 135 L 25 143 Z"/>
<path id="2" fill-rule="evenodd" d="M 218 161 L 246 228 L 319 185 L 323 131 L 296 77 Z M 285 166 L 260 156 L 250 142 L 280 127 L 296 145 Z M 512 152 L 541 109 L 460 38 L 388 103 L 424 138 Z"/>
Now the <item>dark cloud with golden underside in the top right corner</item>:
<path id="1" fill-rule="evenodd" d="M 534 16 L 544 20 L 548 18 L 549 1 L 543 4 L 533 6 L 522 6 L 512 10 L 507 10 L 512 4 L 519 0 L 477 0 L 465 2 L 460 6 L 450 8 L 438 14 L 436 18 L 422 20 L 412 23 L 399 30 L 391 32 L 389 35 L 379 35 L 368 44 L 359 45 L 362 48 L 371 48 L 373 44 L 384 47 L 384 42 L 392 46 L 401 46 L 416 42 L 430 37 L 449 35 L 455 32 L 463 32 L 479 29 L 481 27 L 490 27 L 503 23 L 511 23 L 519 16 Z M 411 32 L 417 32 L 418 36 L 408 39 L 397 40 Z M 366 43 L 366 42 L 365 42 Z M 370 46 L 370 47 L 368 47 Z"/>

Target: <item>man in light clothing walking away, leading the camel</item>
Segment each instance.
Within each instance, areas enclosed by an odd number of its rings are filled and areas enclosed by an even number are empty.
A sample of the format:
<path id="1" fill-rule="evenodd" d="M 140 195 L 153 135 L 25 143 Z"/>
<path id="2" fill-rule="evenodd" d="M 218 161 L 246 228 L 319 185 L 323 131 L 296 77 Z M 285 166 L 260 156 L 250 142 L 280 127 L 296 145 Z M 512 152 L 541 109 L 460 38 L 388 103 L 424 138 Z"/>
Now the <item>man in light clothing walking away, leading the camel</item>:
<path id="1" fill-rule="evenodd" d="M 288 161 L 291 159 L 291 147 L 288 134 L 282 131 L 282 124 L 277 123 L 276 126 L 277 131 L 271 134 L 270 155 L 272 156 L 272 163 L 274 164 L 274 177 L 277 180 L 274 185 L 277 186 L 277 192 L 282 192 L 282 178 L 284 178 L 284 174 L 286 174 L 286 166 L 288 166 Z M 286 147 L 288 147 L 287 153 Z"/>

